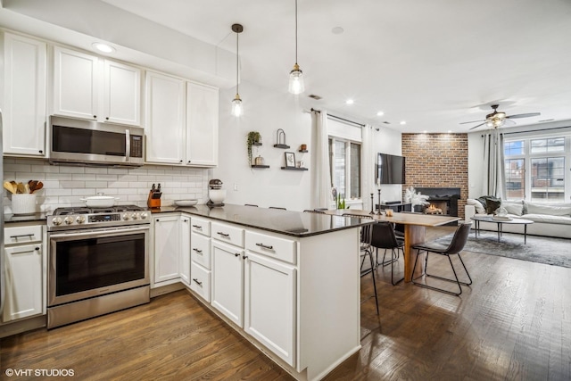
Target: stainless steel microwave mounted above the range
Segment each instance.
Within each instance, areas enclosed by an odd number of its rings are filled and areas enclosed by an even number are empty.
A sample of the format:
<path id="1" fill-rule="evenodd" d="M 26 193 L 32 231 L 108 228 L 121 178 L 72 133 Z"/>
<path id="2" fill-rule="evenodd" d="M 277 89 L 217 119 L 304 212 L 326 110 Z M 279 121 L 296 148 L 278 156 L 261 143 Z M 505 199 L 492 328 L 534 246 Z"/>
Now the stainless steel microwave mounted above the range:
<path id="1" fill-rule="evenodd" d="M 52 163 L 138 167 L 145 163 L 145 129 L 52 116 Z"/>

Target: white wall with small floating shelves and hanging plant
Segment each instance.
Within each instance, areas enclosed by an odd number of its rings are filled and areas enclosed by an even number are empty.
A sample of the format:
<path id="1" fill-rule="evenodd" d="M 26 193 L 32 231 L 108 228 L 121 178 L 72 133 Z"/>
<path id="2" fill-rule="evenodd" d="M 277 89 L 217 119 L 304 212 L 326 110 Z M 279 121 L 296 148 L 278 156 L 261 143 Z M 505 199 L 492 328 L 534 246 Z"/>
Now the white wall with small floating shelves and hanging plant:
<path id="1" fill-rule="evenodd" d="M 285 83 L 284 86 L 286 86 Z M 294 152 L 295 160 L 310 167 L 311 152 L 298 153 L 302 144 L 310 147 L 311 117 L 303 112 L 294 95 L 270 92 L 247 81 L 240 84 L 244 115 L 230 115 L 230 103 L 236 88 L 219 93 L 219 167 L 211 170 L 211 178 L 219 178 L 227 189 L 225 203 L 253 203 L 261 207 L 281 206 L 302 211 L 310 207 L 310 171 L 281 170 L 285 152 Z M 290 149 L 274 148 L 278 128 L 285 131 Z M 246 136 L 250 131 L 261 134 L 262 145 L 253 147 L 269 169 L 252 169 L 248 165 Z M 236 185 L 237 190 L 234 190 Z"/>

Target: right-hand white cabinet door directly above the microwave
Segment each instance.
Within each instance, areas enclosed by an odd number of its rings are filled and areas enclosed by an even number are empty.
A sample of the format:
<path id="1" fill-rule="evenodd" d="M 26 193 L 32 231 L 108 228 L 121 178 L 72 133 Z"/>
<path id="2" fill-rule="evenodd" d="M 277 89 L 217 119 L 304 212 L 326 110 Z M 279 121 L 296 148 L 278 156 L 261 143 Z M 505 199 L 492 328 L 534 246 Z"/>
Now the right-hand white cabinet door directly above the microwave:
<path id="1" fill-rule="evenodd" d="M 114 123 L 141 124 L 141 70 L 104 62 L 103 117 Z"/>

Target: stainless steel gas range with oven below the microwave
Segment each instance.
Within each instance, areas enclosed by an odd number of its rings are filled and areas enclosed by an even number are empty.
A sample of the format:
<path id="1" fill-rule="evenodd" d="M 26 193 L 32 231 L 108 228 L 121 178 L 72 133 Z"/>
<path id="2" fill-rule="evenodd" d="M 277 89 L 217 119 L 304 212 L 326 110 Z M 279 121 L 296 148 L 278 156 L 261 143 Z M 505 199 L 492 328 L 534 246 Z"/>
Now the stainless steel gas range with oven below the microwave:
<path id="1" fill-rule="evenodd" d="M 151 212 L 137 205 L 58 208 L 47 217 L 47 327 L 150 301 Z"/>

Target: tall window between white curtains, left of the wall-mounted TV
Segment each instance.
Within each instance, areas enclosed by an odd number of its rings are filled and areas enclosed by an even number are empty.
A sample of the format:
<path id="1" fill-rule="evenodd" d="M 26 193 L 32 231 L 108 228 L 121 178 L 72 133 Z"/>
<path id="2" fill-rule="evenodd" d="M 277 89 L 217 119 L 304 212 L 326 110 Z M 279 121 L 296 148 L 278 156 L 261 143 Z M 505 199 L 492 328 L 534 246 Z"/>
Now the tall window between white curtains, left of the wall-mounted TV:
<path id="1" fill-rule="evenodd" d="M 329 137 L 329 168 L 338 195 L 360 198 L 360 143 Z"/>

